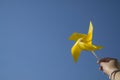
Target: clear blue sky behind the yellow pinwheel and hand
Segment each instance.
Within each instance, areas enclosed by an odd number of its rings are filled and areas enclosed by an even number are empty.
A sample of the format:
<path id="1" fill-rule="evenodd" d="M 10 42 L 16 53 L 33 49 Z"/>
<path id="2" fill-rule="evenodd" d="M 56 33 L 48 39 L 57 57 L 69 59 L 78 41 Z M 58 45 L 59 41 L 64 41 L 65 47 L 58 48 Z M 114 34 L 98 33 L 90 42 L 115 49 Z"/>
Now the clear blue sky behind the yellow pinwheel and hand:
<path id="1" fill-rule="evenodd" d="M 96 53 L 120 59 L 119 0 L 0 0 L 0 80 L 106 80 L 91 53 L 71 56 L 90 20 Z"/>

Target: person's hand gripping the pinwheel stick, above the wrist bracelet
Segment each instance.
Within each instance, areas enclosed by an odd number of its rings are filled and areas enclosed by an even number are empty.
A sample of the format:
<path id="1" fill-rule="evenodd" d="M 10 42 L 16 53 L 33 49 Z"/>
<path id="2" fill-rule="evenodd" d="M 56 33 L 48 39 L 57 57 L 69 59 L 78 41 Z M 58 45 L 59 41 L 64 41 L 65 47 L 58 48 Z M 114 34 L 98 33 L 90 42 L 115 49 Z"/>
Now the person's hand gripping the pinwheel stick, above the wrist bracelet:
<path id="1" fill-rule="evenodd" d="M 118 60 L 115 58 L 102 58 L 98 63 L 100 64 L 100 70 L 108 76 L 110 76 L 113 71 L 120 69 Z"/>

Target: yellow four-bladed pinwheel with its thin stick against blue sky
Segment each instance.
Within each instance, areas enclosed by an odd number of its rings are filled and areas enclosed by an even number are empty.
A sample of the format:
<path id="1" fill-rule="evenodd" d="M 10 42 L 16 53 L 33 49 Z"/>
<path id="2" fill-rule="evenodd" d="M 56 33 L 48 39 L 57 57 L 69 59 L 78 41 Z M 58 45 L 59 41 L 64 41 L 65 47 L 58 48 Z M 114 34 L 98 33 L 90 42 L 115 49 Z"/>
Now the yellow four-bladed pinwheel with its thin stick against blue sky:
<path id="1" fill-rule="evenodd" d="M 80 34 L 80 33 L 73 33 L 69 40 L 74 40 L 76 43 L 71 48 L 71 53 L 74 58 L 74 62 L 78 61 L 78 58 L 80 56 L 80 53 L 82 50 L 91 51 L 96 58 L 98 56 L 94 53 L 95 50 L 99 50 L 102 48 L 102 46 L 96 46 L 92 44 L 92 34 L 93 34 L 93 25 L 90 21 L 88 34 Z"/>

